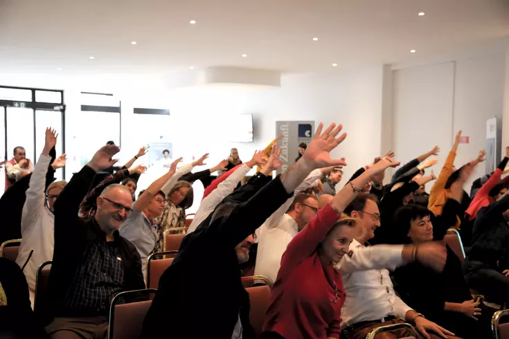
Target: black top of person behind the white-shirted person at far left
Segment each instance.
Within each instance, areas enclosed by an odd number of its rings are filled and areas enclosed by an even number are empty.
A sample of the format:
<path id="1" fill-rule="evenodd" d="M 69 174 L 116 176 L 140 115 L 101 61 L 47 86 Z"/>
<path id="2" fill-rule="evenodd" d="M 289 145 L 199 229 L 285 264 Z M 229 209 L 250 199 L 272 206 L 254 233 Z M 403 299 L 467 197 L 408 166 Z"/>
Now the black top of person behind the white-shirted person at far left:
<path id="1" fill-rule="evenodd" d="M 55 171 L 53 167 L 51 167 L 51 164 L 55 161 L 55 147 L 51 149 L 49 155 L 51 156 L 51 161 L 48 165 L 48 172 L 46 172 L 46 186 L 44 192 L 46 192 L 48 186 L 55 181 L 53 177 Z M 21 238 L 21 214 L 23 212 L 23 205 L 25 204 L 26 191 L 30 186 L 31 176 L 32 174 L 30 173 L 13 183 L 0 197 L 0 214 L 3 216 L 2 225 L 0 227 L 0 244 L 6 240 Z"/>

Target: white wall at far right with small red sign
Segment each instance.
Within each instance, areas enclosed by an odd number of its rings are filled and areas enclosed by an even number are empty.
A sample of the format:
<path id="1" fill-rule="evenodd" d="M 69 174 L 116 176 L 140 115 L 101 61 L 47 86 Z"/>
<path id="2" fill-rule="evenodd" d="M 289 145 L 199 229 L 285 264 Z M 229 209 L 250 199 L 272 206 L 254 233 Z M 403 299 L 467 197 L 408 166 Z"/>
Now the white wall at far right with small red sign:
<path id="1" fill-rule="evenodd" d="M 439 145 L 438 174 L 460 129 L 463 136 L 470 136 L 470 143 L 459 146 L 456 166 L 475 158 L 485 148 L 485 120 L 502 116 L 504 64 L 504 56 L 497 54 L 396 70 L 393 119 L 398 159 L 409 161 Z M 484 165 L 479 165 L 472 180 L 484 172 Z"/>

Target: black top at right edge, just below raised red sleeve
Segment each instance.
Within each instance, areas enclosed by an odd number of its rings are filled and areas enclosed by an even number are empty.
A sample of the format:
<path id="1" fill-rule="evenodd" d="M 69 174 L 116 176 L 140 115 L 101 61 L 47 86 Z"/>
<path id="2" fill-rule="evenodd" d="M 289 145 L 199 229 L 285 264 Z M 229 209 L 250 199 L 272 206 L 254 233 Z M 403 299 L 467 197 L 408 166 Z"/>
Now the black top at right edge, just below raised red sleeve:
<path id="1" fill-rule="evenodd" d="M 509 194 L 477 213 L 468 259 L 500 271 L 509 264 L 509 226 L 503 212 L 509 209 Z"/>

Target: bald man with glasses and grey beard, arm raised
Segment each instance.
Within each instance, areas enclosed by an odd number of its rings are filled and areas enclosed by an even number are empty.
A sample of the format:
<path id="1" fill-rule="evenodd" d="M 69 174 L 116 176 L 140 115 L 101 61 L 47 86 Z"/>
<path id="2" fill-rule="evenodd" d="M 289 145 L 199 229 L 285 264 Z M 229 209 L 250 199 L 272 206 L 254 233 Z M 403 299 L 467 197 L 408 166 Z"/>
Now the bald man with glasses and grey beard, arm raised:
<path id="1" fill-rule="evenodd" d="M 46 327 L 52 339 L 105 338 L 111 299 L 145 288 L 140 255 L 118 233 L 131 212 L 129 190 L 109 185 L 98 196 L 93 217 L 78 218 L 93 176 L 114 165 L 111 158 L 119 150 L 116 145 L 99 149 L 55 201 L 55 251 L 44 305 L 53 318 Z"/>

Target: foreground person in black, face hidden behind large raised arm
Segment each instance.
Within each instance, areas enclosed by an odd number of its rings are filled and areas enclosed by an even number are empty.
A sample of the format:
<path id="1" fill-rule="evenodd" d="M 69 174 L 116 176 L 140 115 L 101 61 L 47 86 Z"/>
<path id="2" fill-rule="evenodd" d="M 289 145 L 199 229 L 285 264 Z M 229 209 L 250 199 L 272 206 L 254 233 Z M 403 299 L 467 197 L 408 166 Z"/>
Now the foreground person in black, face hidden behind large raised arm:
<path id="1" fill-rule="evenodd" d="M 162 322 L 176 337 L 253 338 L 249 296 L 242 287 L 238 264 L 247 261 L 256 228 L 287 201 L 307 174 L 316 168 L 344 165 L 329 156 L 346 136 L 336 138 L 341 126 L 334 129 L 331 125 L 323 134 L 322 128 L 320 124 L 301 160 L 249 200 L 218 206 L 208 227 L 199 227 L 184 238 L 173 264 L 161 276 L 141 338 L 158 336 Z"/>

